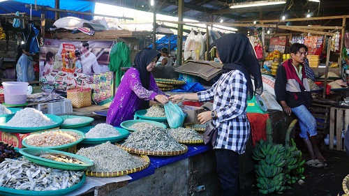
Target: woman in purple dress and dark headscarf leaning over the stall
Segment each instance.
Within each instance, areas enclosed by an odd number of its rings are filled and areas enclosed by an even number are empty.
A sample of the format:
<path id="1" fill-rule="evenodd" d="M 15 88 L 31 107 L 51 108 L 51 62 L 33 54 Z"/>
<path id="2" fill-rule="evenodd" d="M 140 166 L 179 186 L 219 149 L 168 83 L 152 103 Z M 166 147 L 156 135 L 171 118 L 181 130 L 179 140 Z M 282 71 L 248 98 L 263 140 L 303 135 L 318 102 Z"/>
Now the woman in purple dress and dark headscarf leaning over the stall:
<path id="1" fill-rule="evenodd" d="M 148 47 L 135 55 L 133 67 L 126 71 L 109 107 L 107 123 L 119 126 L 123 121 L 132 120 L 136 111 L 149 108 L 149 100 L 168 103 L 168 97 L 151 74 L 159 57 L 159 52 Z"/>

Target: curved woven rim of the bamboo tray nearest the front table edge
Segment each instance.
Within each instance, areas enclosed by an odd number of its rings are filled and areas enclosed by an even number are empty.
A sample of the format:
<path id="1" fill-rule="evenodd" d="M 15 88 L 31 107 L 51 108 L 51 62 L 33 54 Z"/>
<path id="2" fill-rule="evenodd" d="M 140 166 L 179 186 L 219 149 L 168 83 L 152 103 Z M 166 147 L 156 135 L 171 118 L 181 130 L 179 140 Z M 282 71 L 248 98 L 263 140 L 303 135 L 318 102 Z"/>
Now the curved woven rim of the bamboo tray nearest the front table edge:
<path id="1" fill-rule="evenodd" d="M 91 171 L 87 171 L 86 175 L 87 176 L 95 176 L 95 177 L 114 177 L 114 176 L 124 176 L 127 174 L 132 174 L 135 172 L 140 172 L 140 170 L 143 170 L 145 168 L 147 168 L 150 164 L 150 159 L 148 156 L 144 155 L 144 154 L 134 154 L 136 156 L 140 156 L 142 158 L 144 158 L 145 160 L 147 160 L 147 163 L 145 165 L 142 165 L 141 167 L 137 167 L 134 169 L 127 169 L 124 171 L 118 171 L 118 172 L 91 172 Z"/>

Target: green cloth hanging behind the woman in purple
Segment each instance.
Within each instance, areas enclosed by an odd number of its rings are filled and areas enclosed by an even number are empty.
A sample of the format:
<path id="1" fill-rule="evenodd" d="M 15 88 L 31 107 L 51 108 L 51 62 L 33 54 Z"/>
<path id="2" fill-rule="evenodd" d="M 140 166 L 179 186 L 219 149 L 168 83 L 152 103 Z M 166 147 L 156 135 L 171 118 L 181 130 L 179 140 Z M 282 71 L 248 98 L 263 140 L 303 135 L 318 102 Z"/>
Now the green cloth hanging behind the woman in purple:
<path id="1" fill-rule="evenodd" d="M 110 63 L 108 65 L 112 72 L 115 72 L 115 86 L 121 82 L 121 68 L 131 67 L 130 48 L 124 42 L 119 42 L 110 51 Z"/>

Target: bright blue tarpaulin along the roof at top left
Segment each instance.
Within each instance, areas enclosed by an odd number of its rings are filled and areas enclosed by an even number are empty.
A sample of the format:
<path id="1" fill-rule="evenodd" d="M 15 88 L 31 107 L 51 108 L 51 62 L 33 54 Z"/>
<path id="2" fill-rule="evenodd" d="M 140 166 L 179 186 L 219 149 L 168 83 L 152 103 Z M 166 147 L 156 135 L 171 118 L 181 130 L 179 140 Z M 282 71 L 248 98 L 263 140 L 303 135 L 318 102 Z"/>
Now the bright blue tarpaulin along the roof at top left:
<path id="1" fill-rule="evenodd" d="M 32 4 L 33 11 L 31 13 L 32 17 L 41 17 L 41 14 L 45 14 L 45 18 L 50 18 L 54 20 L 54 12 L 48 10 L 34 10 L 35 0 L 13 0 L 13 1 L 1 1 L 0 2 L 0 14 L 7 13 L 20 13 L 30 14 L 30 9 L 25 7 L 25 4 Z M 38 6 L 48 6 L 54 8 L 54 0 L 36 0 L 36 5 Z M 59 9 L 61 10 L 74 10 L 77 12 L 88 12 L 94 13 L 95 3 L 90 1 L 79 1 L 75 0 L 74 3 L 69 0 L 60 0 Z M 78 15 L 73 13 L 59 13 L 60 17 L 74 16 L 80 17 L 84 20 L 92 20 L 93 16 L 91 15 Z"/>

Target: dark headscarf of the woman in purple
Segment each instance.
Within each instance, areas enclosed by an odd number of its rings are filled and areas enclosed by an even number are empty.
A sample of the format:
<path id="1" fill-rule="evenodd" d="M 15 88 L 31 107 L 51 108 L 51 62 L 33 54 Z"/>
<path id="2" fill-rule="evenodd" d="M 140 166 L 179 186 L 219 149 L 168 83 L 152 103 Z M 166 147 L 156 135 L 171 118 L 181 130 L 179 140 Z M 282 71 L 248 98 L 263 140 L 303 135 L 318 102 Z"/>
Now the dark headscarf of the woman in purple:
<path id="1" fill-rule="evenodd" d="M 161 54 L 154 49 L 145 47 L 142 51 L 135 55 L 135 60 L 133 61 L 133 67 L 136 68 L 140 73 L 140 82 L 142 82 L 142 86 L 148 90 L 150 84 L 150 73 L 147 70 L 147 66 L 156 56 L 160 58 Z"/>

